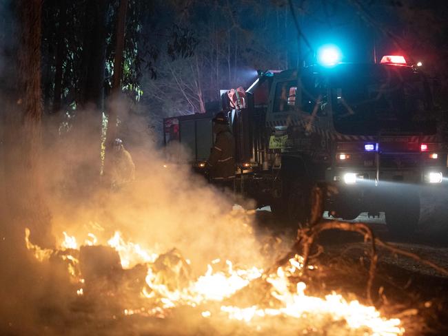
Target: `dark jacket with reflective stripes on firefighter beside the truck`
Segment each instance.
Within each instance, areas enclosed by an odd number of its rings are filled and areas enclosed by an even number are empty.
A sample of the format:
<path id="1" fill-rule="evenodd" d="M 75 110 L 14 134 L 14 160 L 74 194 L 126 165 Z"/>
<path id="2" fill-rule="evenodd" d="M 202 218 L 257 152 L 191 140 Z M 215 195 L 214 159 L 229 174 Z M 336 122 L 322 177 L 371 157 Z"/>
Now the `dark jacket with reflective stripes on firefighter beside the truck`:
<path id="1" fill-rule="evenodd" d="M 210 158 L 207 161 L 207 168 L 212 180 L 226 180 L 235 177 L 235 141 L 228 125 L 214 125 L 216 140 Z"/>

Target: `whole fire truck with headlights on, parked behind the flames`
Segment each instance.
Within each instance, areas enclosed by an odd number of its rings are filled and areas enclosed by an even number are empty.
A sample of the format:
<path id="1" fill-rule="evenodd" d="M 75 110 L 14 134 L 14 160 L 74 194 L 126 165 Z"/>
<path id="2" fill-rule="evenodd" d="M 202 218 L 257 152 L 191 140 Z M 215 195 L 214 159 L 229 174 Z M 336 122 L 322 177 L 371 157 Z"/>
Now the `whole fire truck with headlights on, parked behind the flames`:
<path id="1" fill-rule="evenodd" d="M 266 71 L 244 92 L 224 92 L 231 97 L 223 109 L 236 143 L 236 191 L 304 224 L 320 190 L 318 209 L 334 218 L 384 212 L 392 234 L 413 233 L 420 187 L 440 187 L 447 176 L 447 118 L 431 87 L 403 56 L 384 56 L 380 63 Z M 213 115 L 164 120 L 165 143 L 189 148 L 196 171 L 212 147 Z"/>

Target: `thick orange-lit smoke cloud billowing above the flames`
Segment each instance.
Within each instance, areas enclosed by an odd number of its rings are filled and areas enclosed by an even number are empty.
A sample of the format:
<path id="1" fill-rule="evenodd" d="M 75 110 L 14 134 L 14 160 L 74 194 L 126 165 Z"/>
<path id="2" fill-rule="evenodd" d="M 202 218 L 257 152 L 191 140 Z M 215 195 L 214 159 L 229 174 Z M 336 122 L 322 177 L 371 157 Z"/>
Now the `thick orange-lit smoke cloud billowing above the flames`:
<path id="1" fill-rule="evenodd" d="M 105 242 L 121 231 L 125 239 L 159 253 L 176 247 L 192 265 L 203 267 L 215 258 L 259 263 L 261 246 L 251 216 L 243 209 L 231 211 L 233 196 L 192 174 L 189 165 L 167 162 L 173 154 L 156 147 L 156 135 L 146 124 L 140 116 L 121 116 L 123 145 L 136 177 L 118 188 L 91 174 L 99 161 L 96 136 L 86 140 L 74 132 L 44 154 L 45 166 L 53 167 L 46 174 L 45 194 L 54 236 L 61 239 L 65 231 L 83 242 L 93 233 Z"/>

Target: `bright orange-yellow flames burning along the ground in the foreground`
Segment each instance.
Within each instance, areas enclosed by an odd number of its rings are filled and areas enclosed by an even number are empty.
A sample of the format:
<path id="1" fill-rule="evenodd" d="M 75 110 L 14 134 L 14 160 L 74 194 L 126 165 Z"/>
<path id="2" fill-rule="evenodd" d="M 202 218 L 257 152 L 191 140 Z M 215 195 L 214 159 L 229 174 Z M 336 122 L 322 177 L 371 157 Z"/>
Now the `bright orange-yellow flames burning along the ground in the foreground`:
<path id="1" fill-rule="evenodd" d="M 28 249 L 34 252 L 35 258 L 40 262 L 48 260 L 54 253 L 51 249 L 41 249 L 30 242 L 30 230 L 26 229 L 25 241 Z M 78 248 L 77 240 L 63 232 L 64 240 L 61 242 L 61 250 Z M 94 245 L 98 239 L 92 233 L 88 234 L 85 245 Z M 158 254 L 143 249 L 139 244 L 125 242 L 121 233 L 116 231 L 108 244 L 119 253 L 123 268 L 130 268 L 136 264 L 147 265 L 147 275 L 145 287 L 141 294 L 143 300 L 148 299 L 151 307 L 126 308 L 123 315 L 145 314 L 156 317 L 165 317 L 167 310 L 177 306 L 206 306 L 209 302 L 221 302 L 225 298 L 231 297 L 236 291 L 245 288 L 253 280 L 263 278 L 272 289 L 270 295 L 277 300 L 277 304 L 269 308 L 254 304 L 253 306 L 241 308 L 238 306 L 222 305 L 218 311 L 204 309 L 201 313 L 203 318 L 211 318 L 214 315 L 225 315 L 229 319 L 236 319 L 248 325 L 259 325 L 261 319 L 268 317 L 289 317 L 302 319 L 307 323 L 319 324 L 323 326 L 323 321 L 345 322 L 345 326 L 338 324 L 338 328 L 347 328 L 347 333 L 352 335 L 350 330 L 358 330 L 364 335 L 365 330 L 370 330 L 369 335 L 403 335 L 405 329 L 401 326 L 400 319 L 387 319 L 382 317 L 374 306 L 365 306 L 358 300 L 347 301 L 335 292 L 325 295 L 325 297 L 314 297 L 305 294 L 306 284 L 294 282 L 290 278 L 300 275 L 303 269 L 303 257 L 295 255 L 289 263 L 279 267 L 276 273 L 266 274 L 263 269 L 256 266 L 240 268 L 235 267 L 230 260 L 225 261 L 226 268 L 215 271 L 216 264 L 221 260 L 212 260 L 207 265 L 204 275 L 198 277 L 194 282 L 188 282 L 181 288 L 170 288 L 163 282 L 164 278 L 159 277 L 154 269 L 154 261 Z M 77 279 L 79 284 L 84 281 L 79 273 L 79 262 L 72 255 L 62 255 L 62 258 L 70 261 L 68 271 Z M 188 261 L 187 264 L 189 264 Z M 316 266 L 309 265 L 309 269 L 316 269 Z M 179 270 L 178 270 L 179 271 Z M 84 295 L 83 288 L 77 290 L 77 295 Z M 306 318 L 305 318 L 306 317 Z M 314 326 L 315 327 L 315 326 Z"/>

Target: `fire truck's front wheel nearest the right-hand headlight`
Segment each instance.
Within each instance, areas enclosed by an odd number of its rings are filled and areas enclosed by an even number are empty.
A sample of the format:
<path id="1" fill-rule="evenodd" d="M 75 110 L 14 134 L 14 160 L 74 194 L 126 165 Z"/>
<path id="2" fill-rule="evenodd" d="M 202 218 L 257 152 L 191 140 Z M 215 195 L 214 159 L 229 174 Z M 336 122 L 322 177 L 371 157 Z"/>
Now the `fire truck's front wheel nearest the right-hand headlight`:
<path id="1" fill-rule="evenodd" d="M 385 211 L 386 224 L 393 238 L 409 238 L 420 219 L 420 196 L 418 191 L 396 194 L 389 200 Z"/>

